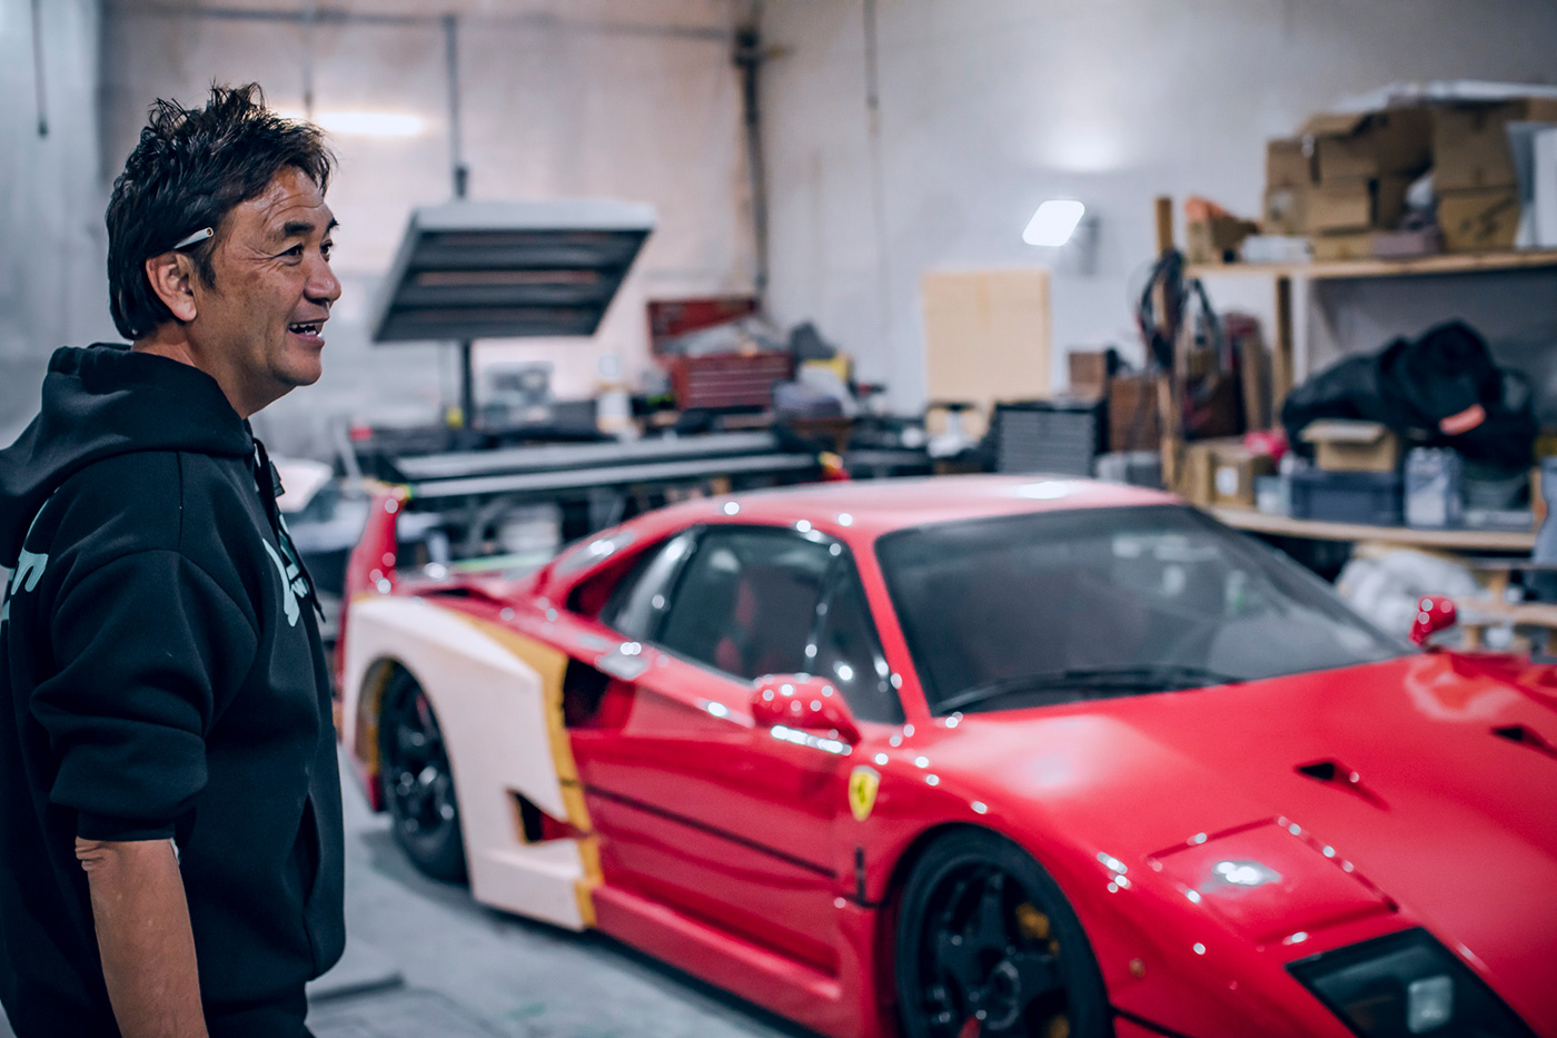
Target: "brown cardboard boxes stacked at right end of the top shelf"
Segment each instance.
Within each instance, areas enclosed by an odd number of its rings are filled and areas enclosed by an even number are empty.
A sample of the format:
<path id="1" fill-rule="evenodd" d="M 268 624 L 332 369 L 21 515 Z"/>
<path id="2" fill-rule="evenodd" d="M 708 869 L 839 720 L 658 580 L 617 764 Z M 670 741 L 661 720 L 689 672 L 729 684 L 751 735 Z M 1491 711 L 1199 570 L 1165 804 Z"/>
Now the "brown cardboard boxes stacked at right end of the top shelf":
<path id="1" fill-rule="evenodd" d="M 1520 178 L 1509 123 L 1557 122 L 1557 98 L 1451 104 L 1432 112 L 1432 185 L 1448 252 L 1513 248 Z"/>

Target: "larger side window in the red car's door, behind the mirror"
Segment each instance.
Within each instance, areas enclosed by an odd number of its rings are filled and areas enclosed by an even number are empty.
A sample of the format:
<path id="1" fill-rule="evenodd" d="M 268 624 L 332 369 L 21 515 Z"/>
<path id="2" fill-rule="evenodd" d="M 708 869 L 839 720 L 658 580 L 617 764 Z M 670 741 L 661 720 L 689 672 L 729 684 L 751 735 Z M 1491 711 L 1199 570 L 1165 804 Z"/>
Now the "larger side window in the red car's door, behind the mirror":
<path id="1" fill-rule="evenodd" d="M 705 530 L 654 641 L 743 680 L 808 670 L 828 549 L 772 527 Z"/>

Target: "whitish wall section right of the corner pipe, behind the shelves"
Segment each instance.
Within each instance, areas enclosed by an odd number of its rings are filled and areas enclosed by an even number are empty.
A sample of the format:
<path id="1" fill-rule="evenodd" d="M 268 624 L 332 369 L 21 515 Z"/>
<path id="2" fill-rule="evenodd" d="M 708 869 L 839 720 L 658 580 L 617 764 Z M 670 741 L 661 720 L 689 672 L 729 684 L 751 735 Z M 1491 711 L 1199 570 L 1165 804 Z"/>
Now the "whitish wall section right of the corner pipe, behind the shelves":
<path id="1" fill-rule="evenodd" d="M 771 301 L 783 321 L 814 318 L 909 408 L 923 399 L 920 274 L 1051 262 L 1021 242 L 1040 201 L 1079 198 L 1099 220 L 1093 271 L 1056 267 L 1063 383 L 1067 348 L 1135 341 L 1154 195 L 1255 214 L 1264 140 L 1311 112 L 1395 81 L 1557 75 L 1545 0 L 878 0 L 872 118 L 866 23 L 864 0 L 764 5 L 780 48 L 763 94 Z M 1557 341 L 1557 281 L 1534 281 L 1330 290 L 1351 313 L 1311 315 L 1316 358 L 1445 312 Z M 1258 284 L 1213 295 L 1271 309 Z"/>

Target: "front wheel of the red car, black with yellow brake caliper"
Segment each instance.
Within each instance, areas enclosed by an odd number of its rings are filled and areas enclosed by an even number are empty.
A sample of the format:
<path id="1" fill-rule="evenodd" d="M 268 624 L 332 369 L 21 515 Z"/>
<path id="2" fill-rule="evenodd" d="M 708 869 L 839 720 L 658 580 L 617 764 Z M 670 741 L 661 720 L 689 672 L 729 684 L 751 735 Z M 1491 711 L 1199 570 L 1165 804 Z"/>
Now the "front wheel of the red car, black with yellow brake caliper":
<path id="1" fill-rule="evenodd" d="M 908 1038 L 1110 1038 L 1098 960 L 1059 884 L 993 832 L 930 845 L 897 913 Z"/>

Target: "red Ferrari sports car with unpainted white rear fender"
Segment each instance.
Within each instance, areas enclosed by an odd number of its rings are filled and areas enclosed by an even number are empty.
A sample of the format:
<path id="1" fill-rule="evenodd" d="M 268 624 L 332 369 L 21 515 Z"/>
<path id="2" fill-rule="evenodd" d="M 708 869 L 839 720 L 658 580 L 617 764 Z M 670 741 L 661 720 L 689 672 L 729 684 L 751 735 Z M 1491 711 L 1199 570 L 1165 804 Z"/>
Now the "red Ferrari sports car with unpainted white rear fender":
<path id="1" fill-rule="evenodd" d="M 1158 493 L 956 477 L 353 556 L 406 854 L 827 1035 L 1557 1038 L 1557 683 Z M 1431 616 L 1422 617 L 1431 627 Z"/>

